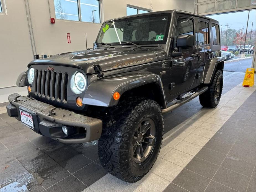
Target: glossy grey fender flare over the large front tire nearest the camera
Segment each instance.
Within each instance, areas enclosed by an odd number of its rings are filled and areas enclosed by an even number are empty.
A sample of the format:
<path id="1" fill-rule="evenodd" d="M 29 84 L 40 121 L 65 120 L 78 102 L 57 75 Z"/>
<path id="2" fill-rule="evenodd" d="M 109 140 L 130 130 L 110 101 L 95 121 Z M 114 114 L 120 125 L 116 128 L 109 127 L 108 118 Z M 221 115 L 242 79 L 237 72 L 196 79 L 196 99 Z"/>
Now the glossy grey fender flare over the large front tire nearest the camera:
<path id="1" fill-rule="evenodd" d="M 149 83 L 156 83 L 159 86 L 159 90 L 161 90 L 159 95 L 164 97 L 163 107 L 167 107 L 161 78 L 157 74 L 148 71 L 126 72 L 97 79 L 88 86 L 82 103 L 86 105 L 111 107 L 118 104 L 118 100 L 114 100 L 113 98 L 115 92 L 120 93 L 121 97 L 124 92 Z"/>

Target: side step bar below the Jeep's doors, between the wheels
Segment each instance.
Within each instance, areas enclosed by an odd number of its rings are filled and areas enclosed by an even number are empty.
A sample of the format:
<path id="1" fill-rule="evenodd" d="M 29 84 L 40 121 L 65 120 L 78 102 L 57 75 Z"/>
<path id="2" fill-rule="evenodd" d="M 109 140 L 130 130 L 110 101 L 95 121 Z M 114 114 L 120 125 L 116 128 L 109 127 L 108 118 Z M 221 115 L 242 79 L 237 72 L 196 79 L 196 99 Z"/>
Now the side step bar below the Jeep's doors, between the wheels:
<path id="1" fill-rule="evenodd" d="M 174 109 L 176 109 L 176 108 L 182 106 L 183 104 L 189 102 L 193 98 L 196 98 L 198 95 L 201 95 L 202 93 L 206 92 L 207 90 L 208 90 L 208 87 L 203 87 L 203 88 L 199 89 L 194 94 L 189 95 L 189 96 L 183 98 L 182 100 L 174 103 L 173 105 L 171 105 L 171 106 L 169 106 L 169 107 L 167 107 L 165 109 L 162 109 L 162 113 L 164 114 L 164 113 L 168 113 L 170 111 L 173 111 Z"/>

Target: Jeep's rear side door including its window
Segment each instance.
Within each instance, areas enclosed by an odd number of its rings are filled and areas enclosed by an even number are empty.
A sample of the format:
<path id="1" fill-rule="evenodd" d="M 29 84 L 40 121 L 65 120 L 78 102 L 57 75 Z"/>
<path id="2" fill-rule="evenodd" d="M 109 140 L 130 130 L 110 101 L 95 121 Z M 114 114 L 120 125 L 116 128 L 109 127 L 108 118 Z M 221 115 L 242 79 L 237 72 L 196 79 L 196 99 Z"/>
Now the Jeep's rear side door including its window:
<path id="1" fill-rule="evenodd" d="M 197 17 L 197 32 L 196 32 L 196 45 L 198 46 L 198 67 L 197 67 L 197 79 L 196 82 L 203 81 L 203 71 L 207 59 L 211 58 L 211 46 L 210 46 L 210 33 L 209 26 L 210 20 Z"/>

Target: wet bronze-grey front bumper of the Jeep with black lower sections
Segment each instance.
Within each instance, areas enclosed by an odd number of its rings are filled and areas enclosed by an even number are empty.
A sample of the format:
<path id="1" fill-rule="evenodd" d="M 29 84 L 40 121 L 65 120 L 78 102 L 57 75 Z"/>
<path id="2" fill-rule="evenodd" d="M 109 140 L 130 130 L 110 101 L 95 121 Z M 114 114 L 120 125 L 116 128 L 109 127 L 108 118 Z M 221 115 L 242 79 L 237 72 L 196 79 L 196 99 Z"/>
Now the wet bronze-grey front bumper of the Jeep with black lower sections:
<path id="1" fill-rule="evenodd" d="M 55 108 L 17 93 L 9 95 L 8 99 L 10 102 L 6 106 L 8 115 L 21 121 L 19 110 L 30 113 L 33 116 L 34 131 L 46 137 L 63 143 L 83 143 L 100 138 L 102 131 L 100 119 Z M 68 135 L 64 135 L 62 132 L 63 126 L 68 129 Z"/>

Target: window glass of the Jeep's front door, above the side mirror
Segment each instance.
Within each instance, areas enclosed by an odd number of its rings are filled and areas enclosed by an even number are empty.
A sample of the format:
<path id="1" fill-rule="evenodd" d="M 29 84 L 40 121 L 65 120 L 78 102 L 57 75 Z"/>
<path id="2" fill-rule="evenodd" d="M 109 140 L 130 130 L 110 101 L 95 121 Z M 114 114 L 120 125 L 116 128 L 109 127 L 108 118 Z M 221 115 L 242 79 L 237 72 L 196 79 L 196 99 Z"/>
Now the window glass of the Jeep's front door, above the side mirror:
<path id="1" fill-rule="evenodd" d="M 179 17 L 177 19 L 176 32 L 175 32 L 175 46 L 177 37 L 179 35 L 194 35 L 193 20 Z"/>

